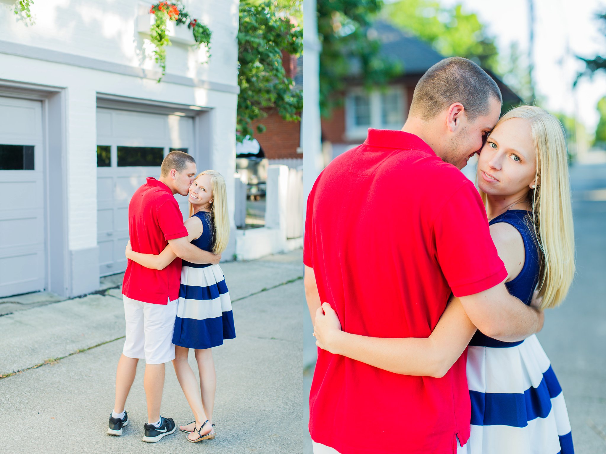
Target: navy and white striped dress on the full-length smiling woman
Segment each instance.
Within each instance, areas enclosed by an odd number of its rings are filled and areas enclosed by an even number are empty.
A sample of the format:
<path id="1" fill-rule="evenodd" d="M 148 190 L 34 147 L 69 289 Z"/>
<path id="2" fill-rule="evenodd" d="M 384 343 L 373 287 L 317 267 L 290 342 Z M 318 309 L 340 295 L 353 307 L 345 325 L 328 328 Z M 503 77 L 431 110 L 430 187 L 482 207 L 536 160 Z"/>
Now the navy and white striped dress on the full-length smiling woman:
<path id="1" fill-rule="evenodd" d="M 213 249 L 213 220 L 210 212 L 194 216 L 202 221 L 202 235 L 191 244 L 205 251 Z M 224 339 L 236 337 L 231 300 L 225 275 L 219 265 L 190 263 L 183 260 L 181 287 L 173 344 L 190 349 L 209 349 Z"/>

